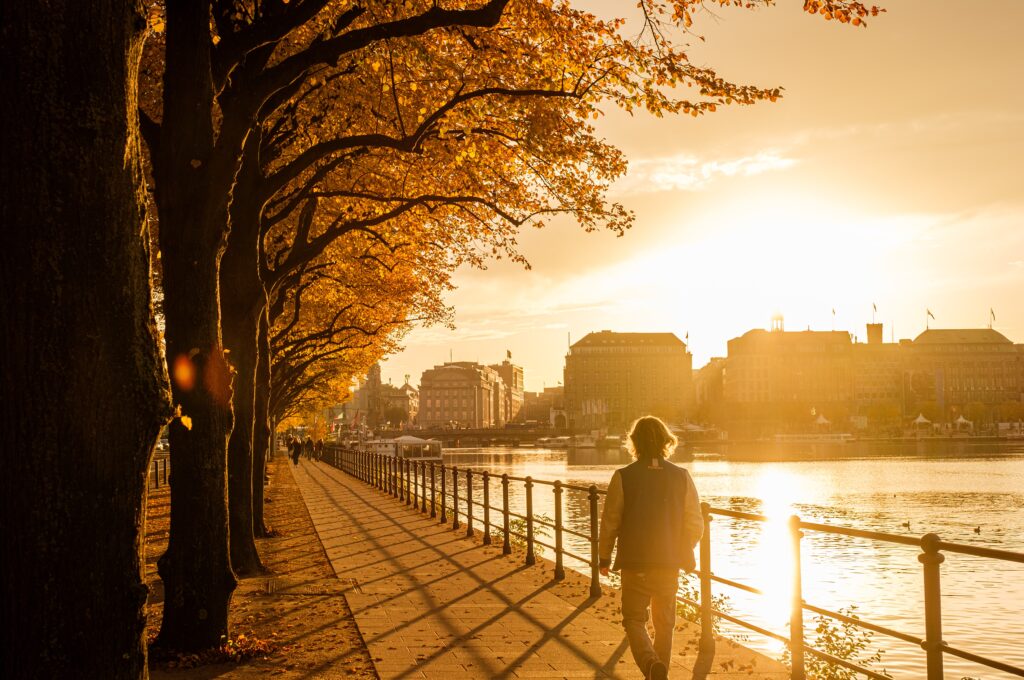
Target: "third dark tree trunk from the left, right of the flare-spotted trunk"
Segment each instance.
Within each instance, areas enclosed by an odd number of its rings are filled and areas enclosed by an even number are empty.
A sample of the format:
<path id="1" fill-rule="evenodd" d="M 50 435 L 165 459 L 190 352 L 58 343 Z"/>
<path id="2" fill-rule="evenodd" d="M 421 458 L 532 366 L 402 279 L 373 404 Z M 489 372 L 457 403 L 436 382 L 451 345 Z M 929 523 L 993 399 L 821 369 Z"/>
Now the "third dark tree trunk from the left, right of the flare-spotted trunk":
<path id="1" fill-rule="evenodd" d="M 237 204 L 238 202 L 236 202 Z M 227 250 L 221 260 L 221 301 L 224 343 L 234 368 L 234 427 L 227 441 L 227 502 L 230 517 L 231 565 L 237 573 L 264 569 L 256 550 L 253 492 L 262 473 L 254 474 L 257 334 L 266 294 L 259 279 L 258 226 L 234 216 Z"/>

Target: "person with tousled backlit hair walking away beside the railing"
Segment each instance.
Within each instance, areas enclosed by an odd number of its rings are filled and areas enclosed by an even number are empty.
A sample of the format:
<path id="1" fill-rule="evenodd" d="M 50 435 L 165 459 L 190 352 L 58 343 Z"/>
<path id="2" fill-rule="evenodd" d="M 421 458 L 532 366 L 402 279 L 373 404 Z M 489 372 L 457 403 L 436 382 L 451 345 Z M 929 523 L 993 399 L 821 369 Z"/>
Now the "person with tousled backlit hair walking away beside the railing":
<path id="1" fill-rule="evenodd" d="M 609 566 L 622 569 L 623 628 L 637 666 L 653 680 L 669 677 L 679 569 L 696 567 L 693 548 L 703 533 L 693 479 L 665 460 L 676 443 L 659 419 L 637 420 L 628 444 L 636 462 L 611 475 L 601 516 L 600 570 L 607 576 Z M 648 615 L 654 620 L 653 642 Z"/>

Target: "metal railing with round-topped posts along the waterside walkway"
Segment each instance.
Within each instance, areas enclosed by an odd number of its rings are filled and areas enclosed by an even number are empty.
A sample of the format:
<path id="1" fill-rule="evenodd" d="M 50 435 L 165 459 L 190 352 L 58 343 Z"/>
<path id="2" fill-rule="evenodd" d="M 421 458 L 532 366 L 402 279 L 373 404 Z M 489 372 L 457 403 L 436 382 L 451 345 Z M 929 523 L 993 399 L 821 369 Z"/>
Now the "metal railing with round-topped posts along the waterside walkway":
<path id="1" fill-rule="evenodd" d="M 601 584 L 599 573 L 598 557 L 598 499 L 605 494 L 604 491 L 595 484 L 582 486 L 578 484 L 567 484 L 562 481 L 547 481 L 534 479 L 532 477 L 517 477 L 509 474 L 496 475 L 487 470 L 474 470 L 472 468 L 459 468 L 430 461 L 410 460 L 357 452 L 340 448 L 328 448 L 325 462 L 338 468 L 339 470 L 356 477 L 368 484 L 386 493 L 407 505 L 411 505 L 420 512 L 429 513 L 430 517 L 437 517 L 441 523 L 451 521 L 452 528 L 462 528 L 461 519 L 465 518 L 465 532 L 467 537 L 475 535 L 476 520 L 481 521 L 484 545 L 490 545 L 490 529 L 495 528 L 502 533 L 502 552 L 511 554 L 512 546 L 510 537 L 517 537 L 525 547 L 525 563 L 535 564 L 537 562 L 537 546 L 543 546 L 554 551 L 554 580 L 560 581 L 565 578 L 563 557 L 569 557 L 589 566 L 590 570 L 590 595 L 591 597 L 601 596 Z M 447 480 L 451 478 L 452 487 L 447 488 Z M 482 498 L 476 500 L 474 491 L 474 478 L 480 479 Z M 501 505 L 490 505 L 490 486 L 496 478 L 501 483 Z M 460 482 L 464 486 L 465 494 L 459 496 Z M 509 485 L 513 482 L 521 482 L 525 495 L 525 514 L 513 512 L 509 506 Z M 428 490 L 429 483 L 429 490 Z M 534 488 L 537 485 L 550 486 L 554 496 L 555 517 L 553 521 L 536 517 L 534 514 Z M 587 534 L 573 530 L 564 525 L 563 521 L 563 495 L 566 492 L 585 494 L 587 498 L 588 525 Z M 428 503 L 429 498 L 429 503 Z M 438 502 L 439 501 L 439 502 Z M 451 501 L 451 506 L 449 506 Z M 942 680 L 943 658 L 945 654 L 951 654 L 959 658 L 986 666 L 991 669 L 1002 671 L 1018 677 L 1024 677 L 1024 669 L 1010 664 L 989 658 L 981 654 L 975 654 L 965 649 L 950 646 L 942 639 L 942 595 L 940 588 L 939 566 L 945 560 L 942 551 L 961 555 L 973 555 L 987 559 L 996 559 L 1024 564 L 1024 553 L 1011 552 L 1007 550 L 996 550 L 992 548 L 982 548 L 966 544 L 949 543 L 942 541 L 935 534 L 926 534 L 920 539 L 911 539 L 896 534 L 884 534 L 881 532 L 868 532 L 864 529 L 851 528 L 846 526 L 834 526 L 831 524 L 821 524 L 802 520 L 799 516 L 793 515 L 788 520 L 788 533 L 793 551 L 793 596 L 790 610 L 790 635 L 779 635 L 756 624 L 733 615 L 731 613 L 716 609 L 713 605 L 712 584 L 719 583 L 724 586 L 736 588 L 738 590 L 764 595 L 764 592 L 753 586 L 738 583 L 720 577 L 712 569 L 711 550 L 711 526 L 714 515 L 722 518 L 739 519 L 756 522 L 768 522 L 765 515 L 740 512 L 736 510 L 726 510 L 723 508 L 713 508 L 707 503 L 701 503 L 701 514 L 703 515 L 703 536 L 700 538 L 699 554 L 700 568 L 695 571 L 700 580 L 699 601 L 680 596 L 678 600 L 689 606 L 695 607 L 699 611 L 700 619 L 700 643 L 699 652 L 707 655 L 710 663 L 715 651 L 714 621 L 720 619 L 731 624 L 750 630 L 754 633 L 764 635 L 773 640 L 782 642 L 790 648 L 791 657 L 791 678 L 793 680 L 806 680 L 805 660 L 808 655 L 815 656 L 829 664 L 841 666 L 868 678 L 878 680 L 888 680 L 889 676 L 883 675 L 868 668 L 864 668 L 849 660 L 834 656 L 825 651 L 816 649 L 807 644 L 804 632 L 804 611 L 811 611 L 818 615 L 828 617 L 836 621 L 850 624 L 858 628 L 888 635 L 890 637 L 919 645 L 925 650 L 927 663 L 928 680 Z M 464 506 L 464 507 L 463 507 Z M 481 513 L 476 517 L 476 510 Z M 447 513 L 451 510 L 452 516 Z M 499 511 L 502 514 L 501 524 L 490 521 L 490 511 Z M 439 517 L 438 517 L 439 515 Z M 521 520 L 525 526 L 525 532 L 516 532 L 511 528 L 512 518 Z M 544 543 L 536 537 L 536 526 L 540 524 L 554 530 L 554 544 Z M 801 540 L 805 532 L 817 532 L 821 534 L 831 534 L 847 536 L 852 538 L 867 539 L 883 543 L 899 544 L 921 548 L 918 560 L 923 567 L 923 580 L 925 589 L 925 637 L 920 638 L 914 635 L 903 633 L 887 626 L 872 624 L 854 617 L 833 611 L 824 607 L 815 606 L 803 599 L 803 578 L 801 569 Z M 563 536 L 565 534 L 574 536 L 590 543 L 590 555 L 582 556 L 565 550 L 563 546 Z"/>

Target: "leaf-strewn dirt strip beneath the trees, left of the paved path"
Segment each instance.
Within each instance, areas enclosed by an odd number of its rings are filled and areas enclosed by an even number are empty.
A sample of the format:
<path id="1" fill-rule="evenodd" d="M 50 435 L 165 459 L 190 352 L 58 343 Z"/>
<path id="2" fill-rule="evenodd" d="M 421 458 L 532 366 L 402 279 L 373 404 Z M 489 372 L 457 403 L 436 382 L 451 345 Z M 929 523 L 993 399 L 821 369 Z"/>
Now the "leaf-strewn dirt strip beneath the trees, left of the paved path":
<path id="1" fill-rule="evenodd" d="M 268 466 L 266 522 L 273 536 L 257 541 L 268 573 L 240 580 L 231 600 L 230 644 L 202 657 L 151 660 L 151 677 L 378 677 L 289 465 L 278 456 Z M 169 513 L 168 486 L 151 487 L 145 541 L 151 640 L 163 613 L 157 559 L 167 547 Z M 223 661 L 232 654 L 241 661 Z"/>

